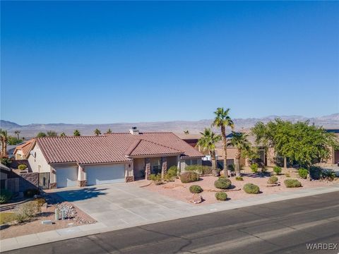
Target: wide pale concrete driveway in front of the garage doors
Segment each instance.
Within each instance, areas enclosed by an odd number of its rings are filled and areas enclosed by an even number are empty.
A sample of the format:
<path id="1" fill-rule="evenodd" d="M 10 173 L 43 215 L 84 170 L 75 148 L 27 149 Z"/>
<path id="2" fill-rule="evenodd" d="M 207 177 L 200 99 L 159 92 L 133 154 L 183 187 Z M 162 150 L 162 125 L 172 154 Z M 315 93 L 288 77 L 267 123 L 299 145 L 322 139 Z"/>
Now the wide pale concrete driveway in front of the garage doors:
<path id="1" fill-rule="evenodd" d="M 56 193 L 105 226 L 136 226 L 201 214 L 205 210 L 132 183 L 63 188 Z"/>

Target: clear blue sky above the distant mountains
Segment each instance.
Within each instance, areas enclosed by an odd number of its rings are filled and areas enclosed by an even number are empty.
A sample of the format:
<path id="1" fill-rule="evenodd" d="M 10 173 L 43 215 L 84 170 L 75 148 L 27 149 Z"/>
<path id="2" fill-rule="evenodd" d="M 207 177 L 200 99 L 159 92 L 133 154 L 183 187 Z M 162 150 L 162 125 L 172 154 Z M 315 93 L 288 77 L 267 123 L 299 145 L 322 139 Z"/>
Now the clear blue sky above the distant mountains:
<path id="1" fill-rule="evenodd" d="M 1 1 L 1 119 L 339 111 L 339 3 Z"/>

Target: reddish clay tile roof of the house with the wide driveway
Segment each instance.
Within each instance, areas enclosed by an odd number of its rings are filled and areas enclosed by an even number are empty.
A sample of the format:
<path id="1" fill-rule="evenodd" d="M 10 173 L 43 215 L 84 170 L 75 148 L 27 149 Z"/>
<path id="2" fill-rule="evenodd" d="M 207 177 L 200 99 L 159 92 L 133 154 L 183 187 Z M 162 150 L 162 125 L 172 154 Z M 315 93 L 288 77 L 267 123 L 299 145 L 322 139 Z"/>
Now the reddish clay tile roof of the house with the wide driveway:
<path id="1" fill-rule="evenodd" d="M 112 133 L 100 136 L 37 138 L 48 163 L 129 162 L 127 156 L 181 155 L 202 157 L 173 133 Z"/>

